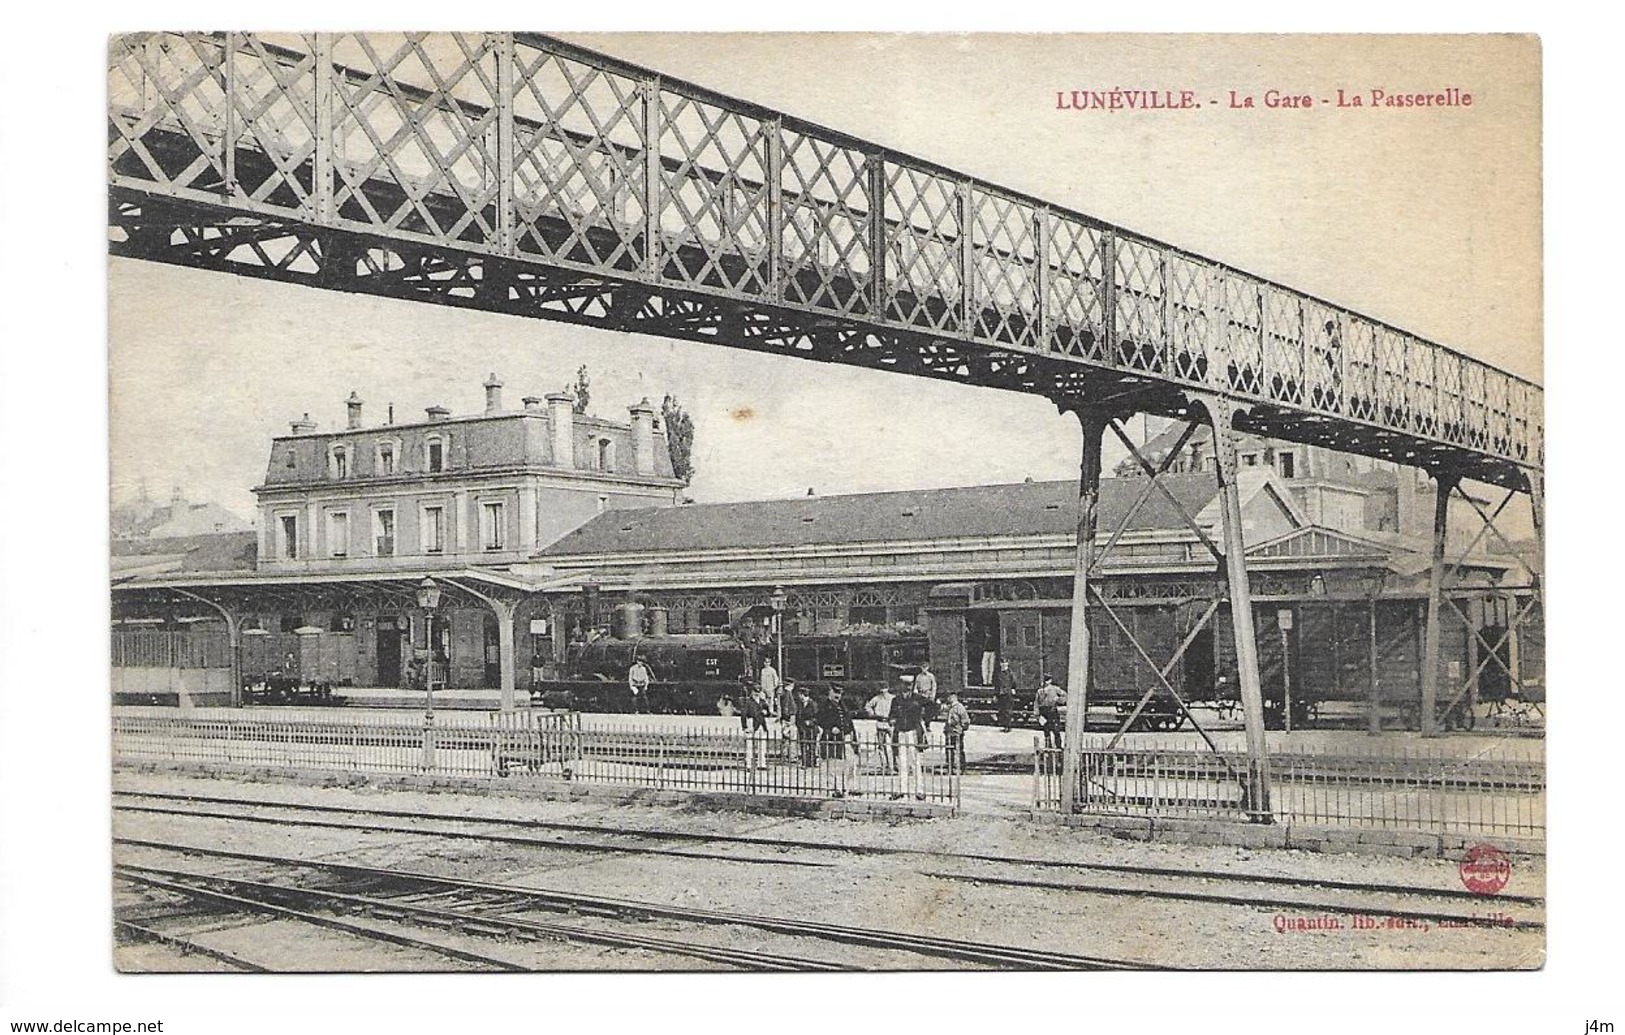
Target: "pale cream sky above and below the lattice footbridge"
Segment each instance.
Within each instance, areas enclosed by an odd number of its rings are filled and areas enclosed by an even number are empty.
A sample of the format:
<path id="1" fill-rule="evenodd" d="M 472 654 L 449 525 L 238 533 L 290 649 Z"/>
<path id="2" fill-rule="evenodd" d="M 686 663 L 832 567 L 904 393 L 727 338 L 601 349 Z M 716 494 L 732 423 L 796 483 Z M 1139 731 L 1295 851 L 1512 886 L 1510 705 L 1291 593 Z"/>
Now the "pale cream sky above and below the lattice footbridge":
<path id="1" fill-rule="evenodd" d="M 1539 380 L 1539 50 L 1529 37 L 574 36 L 1170 240 Z M 832 75 L 830 70 L 840 70 Z M 1336 109 L 1456 86 L 1471 107 Z M 1058 110 L 1056 91 L 1190 89 L 1194 112 Z M 1264 107 L 1266 91 L 1316 106 Z M 1251 96 L 1253 109 L 1232 107 Z M 1206 104 L 1214 101 L 1216 104 Z M 109 266 L 114 499 L 252 515 L 273 434 L 509 405 L 587 364 L 593 413 L 676 395 L 697 500 L 1074 478 L 1042 398 L 710 344 Z M 1115 457 L 1108 453 L 1108 463 Z"/>

